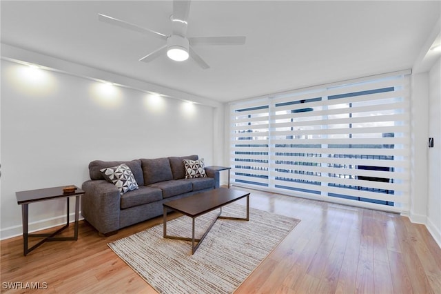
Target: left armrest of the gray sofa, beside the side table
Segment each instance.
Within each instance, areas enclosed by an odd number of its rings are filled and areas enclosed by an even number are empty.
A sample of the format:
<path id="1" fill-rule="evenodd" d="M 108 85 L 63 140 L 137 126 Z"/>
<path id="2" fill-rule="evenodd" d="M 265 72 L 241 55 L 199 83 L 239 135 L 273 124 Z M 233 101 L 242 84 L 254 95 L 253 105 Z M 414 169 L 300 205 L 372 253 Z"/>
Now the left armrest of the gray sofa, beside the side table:
<path id="1" fill-rule="evenodd" d="M 119 229 L 121 195 L 119 189 L 105 180 L 89 180 L 83 183 L 81 215 L 102 234 Z"/>

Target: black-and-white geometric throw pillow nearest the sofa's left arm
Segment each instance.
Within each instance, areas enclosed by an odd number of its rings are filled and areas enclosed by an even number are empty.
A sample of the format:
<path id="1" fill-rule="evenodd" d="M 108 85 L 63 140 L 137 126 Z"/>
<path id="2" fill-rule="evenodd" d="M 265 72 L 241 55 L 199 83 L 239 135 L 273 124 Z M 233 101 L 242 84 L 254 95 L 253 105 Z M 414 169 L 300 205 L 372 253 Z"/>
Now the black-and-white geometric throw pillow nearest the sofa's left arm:
<path id="1" fill-rule="evenodd" d="M 121 195 L 139 188 L 132 170 L 130 170 L 126 164 L 113 166 L 112 168 L 103 168 L 100 171 L 103 173 L 107 182 L 110 182 L 114 184 L 116 188 L 119 188 Z"/>

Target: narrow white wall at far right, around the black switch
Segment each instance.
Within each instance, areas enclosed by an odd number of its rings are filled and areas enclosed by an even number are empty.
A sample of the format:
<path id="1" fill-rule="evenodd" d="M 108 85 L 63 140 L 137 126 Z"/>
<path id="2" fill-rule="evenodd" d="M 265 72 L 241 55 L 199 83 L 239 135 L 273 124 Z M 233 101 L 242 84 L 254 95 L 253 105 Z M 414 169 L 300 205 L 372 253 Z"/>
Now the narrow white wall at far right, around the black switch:
<path id="1" fill-rule="evenodd" d="M 429 72 L 429 137 L 434 147 L 429 148 L 429 199 L 427 228 L 441 246 L 441 59 Z"/>

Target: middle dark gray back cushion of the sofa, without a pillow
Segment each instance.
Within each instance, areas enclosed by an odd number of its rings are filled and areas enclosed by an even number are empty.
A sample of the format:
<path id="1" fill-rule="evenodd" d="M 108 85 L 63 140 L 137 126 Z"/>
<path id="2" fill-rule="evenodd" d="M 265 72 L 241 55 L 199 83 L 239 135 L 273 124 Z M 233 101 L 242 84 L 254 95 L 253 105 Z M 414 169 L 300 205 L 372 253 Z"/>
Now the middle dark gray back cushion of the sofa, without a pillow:
<path id="1" fill-rule="evenodd" d="M 143 168 L 145 186 L 173 179 L 170 160 L 167 157 L 141 159 L 141 166 Z"/>

